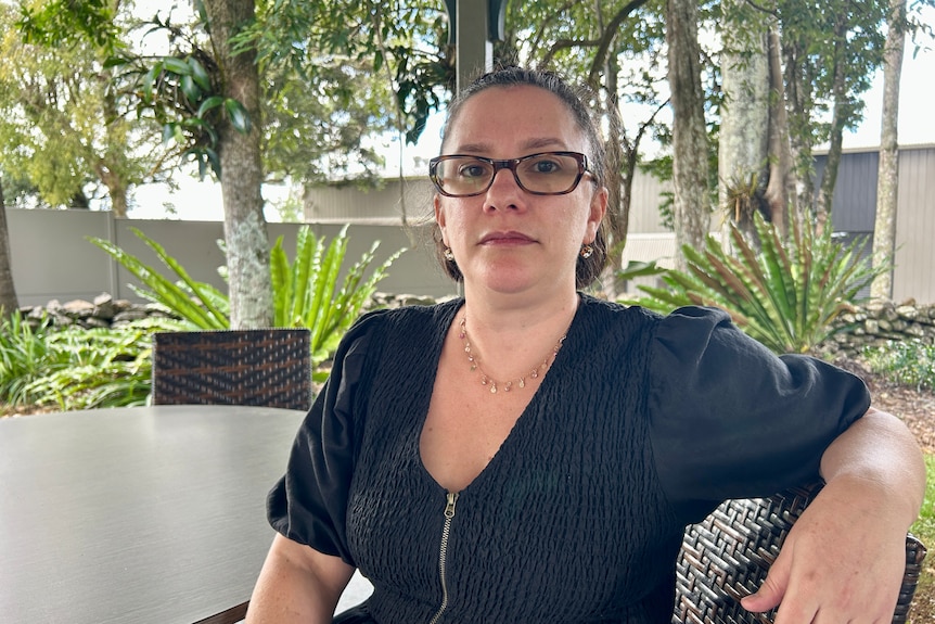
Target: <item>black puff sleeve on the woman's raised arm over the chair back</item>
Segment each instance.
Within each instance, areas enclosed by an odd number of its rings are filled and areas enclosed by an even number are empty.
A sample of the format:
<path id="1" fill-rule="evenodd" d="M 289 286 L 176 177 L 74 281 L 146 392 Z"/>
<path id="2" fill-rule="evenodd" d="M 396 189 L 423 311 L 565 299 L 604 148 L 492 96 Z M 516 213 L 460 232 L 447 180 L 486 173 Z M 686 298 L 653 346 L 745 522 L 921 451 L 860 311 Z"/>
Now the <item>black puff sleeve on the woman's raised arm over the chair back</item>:
<path id="1" fill-rule="evenodd" d="M 857 377 L 808 356 L 778 357 L 722 310 L 675 310 L 651 351 L 656 468 L 691 522 L 727 498 L 817 479 L 824 449 L 870 407 Z"/>

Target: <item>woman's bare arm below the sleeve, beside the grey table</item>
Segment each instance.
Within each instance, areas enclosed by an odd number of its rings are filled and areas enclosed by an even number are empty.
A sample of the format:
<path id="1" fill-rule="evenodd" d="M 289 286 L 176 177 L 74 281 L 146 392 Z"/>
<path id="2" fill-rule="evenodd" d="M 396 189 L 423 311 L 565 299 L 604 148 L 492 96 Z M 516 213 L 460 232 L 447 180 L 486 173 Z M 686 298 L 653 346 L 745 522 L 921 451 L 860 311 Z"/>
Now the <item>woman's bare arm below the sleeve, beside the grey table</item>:
<path id="1" fill-rule="evenodd" d="M 330 624 L 354 569 L 337 557 L 277 535 L 260 571 L 246 624 Z"/>

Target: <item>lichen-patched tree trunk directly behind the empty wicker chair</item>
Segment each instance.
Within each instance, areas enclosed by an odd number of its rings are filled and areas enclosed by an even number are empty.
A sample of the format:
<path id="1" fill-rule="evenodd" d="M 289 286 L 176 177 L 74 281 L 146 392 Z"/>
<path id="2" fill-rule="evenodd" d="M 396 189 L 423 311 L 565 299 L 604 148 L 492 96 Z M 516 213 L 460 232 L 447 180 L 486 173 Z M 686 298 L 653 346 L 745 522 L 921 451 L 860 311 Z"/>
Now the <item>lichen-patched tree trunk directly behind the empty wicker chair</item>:
<path id="1" fill-rule="evenodd" d="M 259 73 L 254 50 L 234 54 L 230 44 L 231 36 L 253 20 L 255 5 L 254 0 L 206 0 L 205 10 L 223 95 L 243 104 L 252 122 L 247 133 L 230 123 L 218 132 L 231 327 L 266 327 L 272 323 L 273 304 L 260 191 Z"/>

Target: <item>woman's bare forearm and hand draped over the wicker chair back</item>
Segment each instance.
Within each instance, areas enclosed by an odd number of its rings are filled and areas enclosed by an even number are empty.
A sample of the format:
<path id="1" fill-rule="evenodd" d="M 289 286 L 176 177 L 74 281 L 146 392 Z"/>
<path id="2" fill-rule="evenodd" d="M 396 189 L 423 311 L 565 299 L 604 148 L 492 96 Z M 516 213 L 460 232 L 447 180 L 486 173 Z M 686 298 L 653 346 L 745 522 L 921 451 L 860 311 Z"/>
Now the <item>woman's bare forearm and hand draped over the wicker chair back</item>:
<path id="1" fill-rule="evenodd" d="M 750 611 L 780 606 L 776 624 L 886 623 L 906 568 L 906 532 L 925 468 L 906 426 L 871 409 L 822 456 L 828 484 L 793 524 Z"/>

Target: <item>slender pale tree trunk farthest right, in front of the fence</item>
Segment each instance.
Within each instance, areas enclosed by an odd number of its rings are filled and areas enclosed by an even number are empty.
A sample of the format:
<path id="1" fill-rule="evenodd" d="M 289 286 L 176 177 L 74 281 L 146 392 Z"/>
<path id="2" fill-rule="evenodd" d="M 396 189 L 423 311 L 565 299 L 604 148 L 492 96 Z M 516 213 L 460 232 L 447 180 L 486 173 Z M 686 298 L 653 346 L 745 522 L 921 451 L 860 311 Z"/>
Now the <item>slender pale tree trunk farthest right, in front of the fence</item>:
<path id="1" fill-rule="evenodd" d="M 883 64 L 883 120 L 880 131 L 880 165 L 876 174 L 876 219 L 873 225 L 873 266 L 884 266 L 896 253 L 896 205 L 899 183 L 899 79 L 906 34 L 902 21 L 906 0 L 891 0 L 889 30 Z M 893 269 L 882 272 L 870 284 L 870 296 L 893 296 Z"/>

